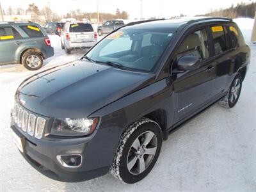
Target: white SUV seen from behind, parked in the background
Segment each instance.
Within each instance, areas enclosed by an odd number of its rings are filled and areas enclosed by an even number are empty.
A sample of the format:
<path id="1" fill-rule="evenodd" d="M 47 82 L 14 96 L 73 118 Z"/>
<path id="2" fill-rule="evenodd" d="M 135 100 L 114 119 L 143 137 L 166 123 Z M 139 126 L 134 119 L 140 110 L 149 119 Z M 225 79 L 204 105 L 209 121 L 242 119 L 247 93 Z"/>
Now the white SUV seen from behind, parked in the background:
<path id="1" fill-rule="evenodd" d="M 97 33 L 89 22 L 67 22 L 61 31 L 61 48 L 66 54 L 72 49 L 90 48 L 97 44 Z"/>

